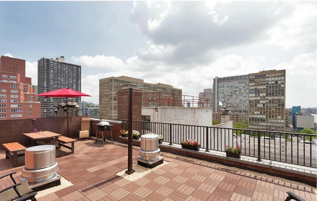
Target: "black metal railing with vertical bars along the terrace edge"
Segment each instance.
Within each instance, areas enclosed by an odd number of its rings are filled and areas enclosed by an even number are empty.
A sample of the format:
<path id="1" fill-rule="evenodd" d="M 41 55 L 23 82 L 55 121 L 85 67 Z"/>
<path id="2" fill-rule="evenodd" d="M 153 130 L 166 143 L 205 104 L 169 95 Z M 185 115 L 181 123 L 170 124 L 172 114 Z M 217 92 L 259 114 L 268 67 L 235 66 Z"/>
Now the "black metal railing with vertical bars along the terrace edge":
<path id="1" fill-rule="evenodd" d="M 127 128 L 127 120 L 122 122 Z M 298 134 L 246 129 L 228 129 L 193 125 L 133 121 L 133 130 L 141 134 L 156 133 L 163 141 L 180 144 L 195 139 L 206 151 L 225 151 L 225 145 L 240 145 L 242 155 L 309 167 L 317 167 L 316 134 Z"/>

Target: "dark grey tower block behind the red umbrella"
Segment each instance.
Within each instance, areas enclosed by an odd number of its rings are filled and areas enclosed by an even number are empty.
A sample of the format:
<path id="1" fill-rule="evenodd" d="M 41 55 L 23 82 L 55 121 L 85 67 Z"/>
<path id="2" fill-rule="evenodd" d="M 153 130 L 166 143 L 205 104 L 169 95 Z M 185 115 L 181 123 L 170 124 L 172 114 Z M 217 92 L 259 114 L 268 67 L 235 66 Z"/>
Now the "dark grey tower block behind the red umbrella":
<path id="1" fill-rule="evenodd" d="M 66 63 L 63 56 L 56 59 L 41 58 L 38 61 L 38 93 L 66 87 L 81 91 L 81 66 Z M 42 104 L 42 118 L 54 117 L 57 105 L 66 102 L 65 97 L 39 96 L 38 100 Z M 80 102 L 80 100 L 80 97 L 68 98 L 68 101 Z"/>

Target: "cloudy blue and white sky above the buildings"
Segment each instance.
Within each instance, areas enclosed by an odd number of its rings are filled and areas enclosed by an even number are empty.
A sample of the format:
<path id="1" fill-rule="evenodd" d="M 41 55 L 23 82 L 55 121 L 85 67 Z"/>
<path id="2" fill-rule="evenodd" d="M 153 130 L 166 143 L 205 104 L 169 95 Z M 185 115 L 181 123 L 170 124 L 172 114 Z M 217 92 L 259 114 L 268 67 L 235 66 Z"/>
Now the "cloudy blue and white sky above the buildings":
<path id="1" fill-rule="evenodd" d="M 99 103 L 99 79 L 130 76 L 199 96 L 213 78 L 286 70 L 286 108 L 317 107 L 317 1 L 0 1 L 0 55 L 64 56 Z"/>

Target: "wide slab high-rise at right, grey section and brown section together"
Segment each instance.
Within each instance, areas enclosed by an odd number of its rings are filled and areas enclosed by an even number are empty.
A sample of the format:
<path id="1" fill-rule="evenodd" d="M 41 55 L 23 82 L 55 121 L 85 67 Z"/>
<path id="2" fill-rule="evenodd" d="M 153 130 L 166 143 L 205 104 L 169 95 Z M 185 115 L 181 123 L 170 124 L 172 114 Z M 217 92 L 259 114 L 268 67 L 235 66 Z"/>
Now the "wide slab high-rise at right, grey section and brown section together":
<path id="1" fill-rule="evenodd" d="M 285 131 L 285 70 L 213 78 L 215 112 L 226 106 L 249 129 Z M 241 115 L 238 115 L 241 114 Z"/>

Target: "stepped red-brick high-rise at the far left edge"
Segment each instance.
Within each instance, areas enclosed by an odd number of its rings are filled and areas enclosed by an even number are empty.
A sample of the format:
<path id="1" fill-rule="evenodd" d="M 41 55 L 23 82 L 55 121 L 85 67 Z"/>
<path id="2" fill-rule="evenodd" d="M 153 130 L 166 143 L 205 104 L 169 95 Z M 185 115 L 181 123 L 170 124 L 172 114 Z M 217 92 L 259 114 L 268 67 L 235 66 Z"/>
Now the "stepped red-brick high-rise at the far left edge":
<path id="1" fill-rule="evenodd" d="M 32 79 L 25 77 L 25 60 L 0 57 L 0 120 L 41 117 Z"/>

